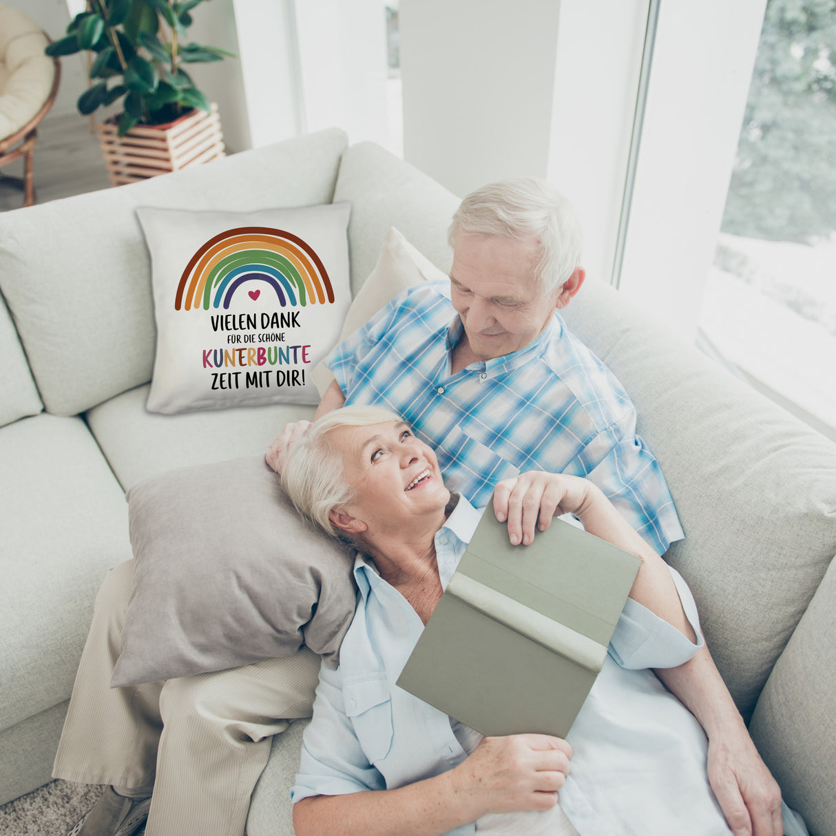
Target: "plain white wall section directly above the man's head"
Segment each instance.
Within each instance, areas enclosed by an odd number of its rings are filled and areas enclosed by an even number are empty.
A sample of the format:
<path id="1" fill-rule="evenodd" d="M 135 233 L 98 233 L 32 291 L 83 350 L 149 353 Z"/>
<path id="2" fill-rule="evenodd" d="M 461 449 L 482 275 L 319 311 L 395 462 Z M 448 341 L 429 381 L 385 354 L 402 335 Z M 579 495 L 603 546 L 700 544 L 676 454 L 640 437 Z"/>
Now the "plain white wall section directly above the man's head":
<path id="1" fill-rule="evenodd" d="M 555 0 L 401 0 L 404 158 L 458 195 L 546 176 Z"/>

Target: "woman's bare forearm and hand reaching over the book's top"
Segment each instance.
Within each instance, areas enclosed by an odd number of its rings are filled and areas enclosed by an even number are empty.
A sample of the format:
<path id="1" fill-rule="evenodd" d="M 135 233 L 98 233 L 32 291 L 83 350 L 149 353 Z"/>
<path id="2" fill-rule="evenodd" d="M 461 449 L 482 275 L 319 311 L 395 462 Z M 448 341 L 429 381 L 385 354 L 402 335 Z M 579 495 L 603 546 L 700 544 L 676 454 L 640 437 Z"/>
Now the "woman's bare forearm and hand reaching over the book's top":
<path id="1" fill-rule="evenodd" d="M 696 643 L 696 633 L 682 609 L 667 564 L 588 479 L 542 471 L 523 473 L 497 485 L 493 510 L 500 522 L 507 519 L 508 536 L 514 545 L 531 543 L 535 528 L 545 531 L 552 517 L 574 514 L 590 534 L 641 558 L 630 598 Z"/>

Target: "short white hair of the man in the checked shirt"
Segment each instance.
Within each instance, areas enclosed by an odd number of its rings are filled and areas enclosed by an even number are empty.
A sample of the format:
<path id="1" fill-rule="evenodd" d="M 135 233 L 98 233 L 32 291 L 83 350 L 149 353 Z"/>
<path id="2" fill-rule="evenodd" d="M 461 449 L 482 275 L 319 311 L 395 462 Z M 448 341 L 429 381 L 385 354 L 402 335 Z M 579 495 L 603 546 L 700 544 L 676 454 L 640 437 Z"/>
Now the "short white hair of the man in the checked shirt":
<path id="1" fill-rule="evenodd" d="M 543 293 L 557 290 L 579 267 L 583 247 L 572 204 L 531 177 L 488 183 L 467 195 L 447 232 L 451 247 L 459 235 L 533 239 L 534 278 Z"/>

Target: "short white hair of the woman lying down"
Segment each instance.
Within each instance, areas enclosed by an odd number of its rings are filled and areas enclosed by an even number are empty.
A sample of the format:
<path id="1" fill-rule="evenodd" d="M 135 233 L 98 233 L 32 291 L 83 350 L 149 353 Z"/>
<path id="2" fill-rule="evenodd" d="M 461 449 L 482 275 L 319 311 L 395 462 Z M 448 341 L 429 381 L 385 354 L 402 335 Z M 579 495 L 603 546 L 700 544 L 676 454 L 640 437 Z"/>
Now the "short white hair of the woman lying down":
<path id="1" fill-rule="evenodd" d="M 342 426 L 400 420 L 382 406 L 344 406 L 314 421 L 304 436 L 288 446 L 282 468 L 282 487 L 296 510 L 333 537 L 342 537 L 329 513 L 351 502 L 354 491 L 345 480 L 342 458 L 329 435 Z"/>

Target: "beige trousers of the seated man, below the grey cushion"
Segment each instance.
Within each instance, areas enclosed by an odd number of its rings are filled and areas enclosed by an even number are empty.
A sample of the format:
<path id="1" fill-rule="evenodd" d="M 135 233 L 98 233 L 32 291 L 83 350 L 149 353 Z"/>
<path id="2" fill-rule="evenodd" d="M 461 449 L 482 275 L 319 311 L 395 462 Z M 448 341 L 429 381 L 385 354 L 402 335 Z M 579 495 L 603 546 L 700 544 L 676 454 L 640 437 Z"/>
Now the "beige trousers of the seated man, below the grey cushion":
<path id="1" fill-rule="evenodd" d="M 153 784 L 146 836 L 239 836 L 271 737 L 311 716 L 319 656 L 110 688 L 133 567 L 111 569 L 99 589 L 53 776 Z"/>

